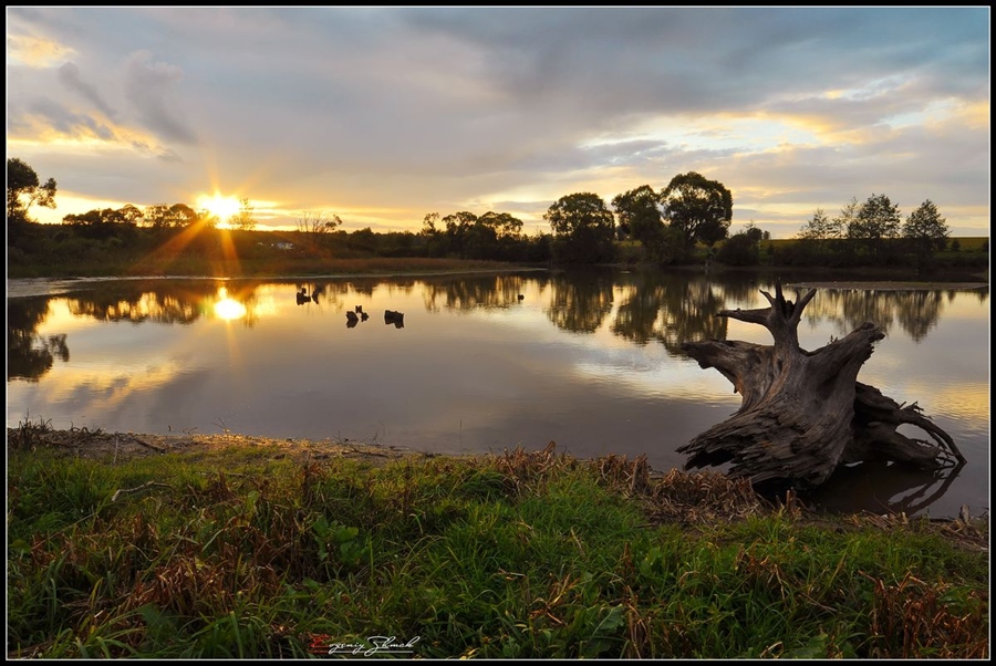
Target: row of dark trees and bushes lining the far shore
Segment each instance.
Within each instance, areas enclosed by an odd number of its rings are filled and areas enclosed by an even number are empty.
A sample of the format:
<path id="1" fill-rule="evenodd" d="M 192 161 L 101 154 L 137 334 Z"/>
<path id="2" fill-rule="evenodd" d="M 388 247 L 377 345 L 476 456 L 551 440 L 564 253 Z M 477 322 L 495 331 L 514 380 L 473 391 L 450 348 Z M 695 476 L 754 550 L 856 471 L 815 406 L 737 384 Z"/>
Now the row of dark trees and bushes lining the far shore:
<path id="1" fill-rule="evenodd" d="M 30 252 L 38 238 L 25 230 L 33 218 L 32 206 L 54 208 L 56 183 L 41 183 L 38 174 L 19 158 L 8 159 L 7 208 L 8 248 Z M 321 256 L 343 251 L 354 254 L 396 257 L 445 257 L 520 262 L 610 263 L 641 261 L 674 266 L 715 259 L 730 266 L 762 262 L 761 241 L 770 233 L 750 222 L 733 236 L 733 195 L 720 181 L 695 171 L 678 174 L 655 190 L 650 185 L 616 195 L 611 204 L 593 192 L 575 192 L 554 201 L 543 215 L 550 232 L 523 233 L 521 219 L 508 212 L 475 215 L 467 210 L 425 216 L 422 229 L 413 232 L 376 233 L 370 228 L 346 232 L 338 215 L 305 211 L 295 220 L 295 231 L 284 235 L 295 251 Z M 186 204 L 154 205 L 139 209 L 94 209 L 66 215 L 61 237 L 75 253 L 86 241 L 113 250 L 162 242 L 164 238 L 190 230 L 212 230 L 225 221 L 237 230 L 257 227 L 253 209 L 242 199 L 240 210 L 219 220 L 206 210 Z M 209 235 L 208 235 L 209 236 Z M 777 262 L 798 266 L 888 266 L 909 263 L 931 268 L 937 250 L 946 247 L 946 220 L 930 199 L 905 221 L 885 195 L 872 195 L 862 204 L 857 198 L 836 217 L 817 209 L 796 236 L 779 250 Z M 60 240 L 56 238 L 56 240 Z M 218 241 L 220 242 L 220 241 Z M 185 242 L 194 250 L 212 251 L 218 242 Z M 257 243 L 260 244 L 260 243 Z M 277 244 L 277 243 L 273 243 Z M 634 248 L 639 252 L 634 252 Z M 769 252 L 771 249 L 769 248 Z M 772 258 L 768 258 L 770 262 Z"/>

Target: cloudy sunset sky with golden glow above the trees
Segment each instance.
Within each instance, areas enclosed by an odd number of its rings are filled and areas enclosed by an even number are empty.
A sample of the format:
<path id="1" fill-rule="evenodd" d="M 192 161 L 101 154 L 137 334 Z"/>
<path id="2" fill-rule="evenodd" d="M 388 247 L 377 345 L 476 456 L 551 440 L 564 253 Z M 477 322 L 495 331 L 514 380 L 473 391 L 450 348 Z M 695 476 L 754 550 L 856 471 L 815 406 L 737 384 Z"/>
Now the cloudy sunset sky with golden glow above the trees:
<path id="1" fill-rule="evenodd" d="M 697 171 L 730 232 L 933 201 L 989 232 L 988 7 L 7 8 L 7 155 L 40 221 L 247 199 L 417 232 Z"/>

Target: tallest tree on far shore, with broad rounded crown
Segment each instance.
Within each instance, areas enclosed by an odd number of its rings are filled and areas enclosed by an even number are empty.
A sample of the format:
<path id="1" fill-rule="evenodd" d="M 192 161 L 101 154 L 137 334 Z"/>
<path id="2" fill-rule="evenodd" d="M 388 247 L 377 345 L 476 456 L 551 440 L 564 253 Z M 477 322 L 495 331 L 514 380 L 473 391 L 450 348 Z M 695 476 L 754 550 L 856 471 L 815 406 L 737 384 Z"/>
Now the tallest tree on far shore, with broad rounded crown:
<path id="1" fill-rule="evenodd" d="M 695 171 L 678 174 L 661 192 L 660 201 L 671 226 L 684 233 L 687 248 L 696 242 L 712 247 L 726 238 L 733 219 L 733 195 L 718 180 Z"/>

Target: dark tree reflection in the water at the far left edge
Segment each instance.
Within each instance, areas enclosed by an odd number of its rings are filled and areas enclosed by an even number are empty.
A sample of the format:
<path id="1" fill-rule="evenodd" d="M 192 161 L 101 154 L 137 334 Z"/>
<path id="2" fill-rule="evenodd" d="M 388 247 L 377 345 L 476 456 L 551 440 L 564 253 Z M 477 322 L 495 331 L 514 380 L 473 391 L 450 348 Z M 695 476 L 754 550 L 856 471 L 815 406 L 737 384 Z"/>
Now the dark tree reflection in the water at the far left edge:
<path id="1" fill-rule="evenodd" d="M 55 356 L 69 361 L 65 333 L 42 337 L 38 326 L 49 314 L 49 299 L 7 300 L 7 381 L 37 382 L 52 368 Z"/>

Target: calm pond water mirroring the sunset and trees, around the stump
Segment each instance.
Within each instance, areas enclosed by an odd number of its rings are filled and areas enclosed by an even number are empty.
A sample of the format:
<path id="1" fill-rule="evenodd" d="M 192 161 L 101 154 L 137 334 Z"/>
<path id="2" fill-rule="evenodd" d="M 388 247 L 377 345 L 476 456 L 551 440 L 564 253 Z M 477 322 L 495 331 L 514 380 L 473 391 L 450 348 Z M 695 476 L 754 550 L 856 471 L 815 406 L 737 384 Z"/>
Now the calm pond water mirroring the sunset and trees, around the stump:
<path id="1" fill-rule="evenodd" d="M 730 383 L 681 343 L 770 344 L 761 326 L 714 315 L 767 306 L 760 290 L 774 293 L 756 273 L 626 271 L 77 280 L 32 295 L 38 284 L 8 282 L 8 427 L 229 430 L 436 452 L 552 440 L 579 458 L 645 454 L 658 470 L 681 467 L 675 449 L 739 407 Z M 818 290 L 801 346 L 881 326 L 859 381 L 917 402 L 968 462 L 940 474 L 843 468 L 812 503 L 988 510 L 988 287 Z"/>

